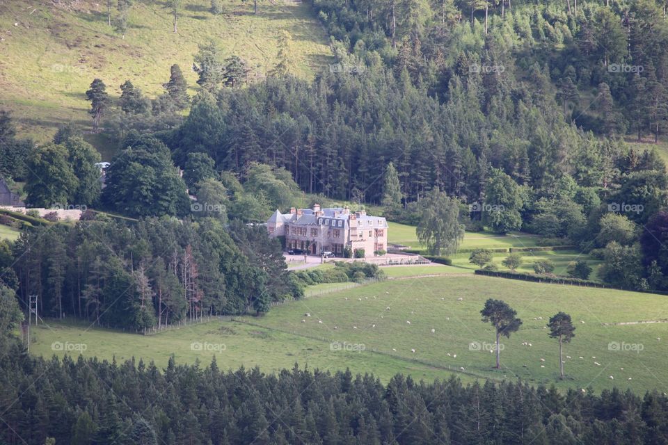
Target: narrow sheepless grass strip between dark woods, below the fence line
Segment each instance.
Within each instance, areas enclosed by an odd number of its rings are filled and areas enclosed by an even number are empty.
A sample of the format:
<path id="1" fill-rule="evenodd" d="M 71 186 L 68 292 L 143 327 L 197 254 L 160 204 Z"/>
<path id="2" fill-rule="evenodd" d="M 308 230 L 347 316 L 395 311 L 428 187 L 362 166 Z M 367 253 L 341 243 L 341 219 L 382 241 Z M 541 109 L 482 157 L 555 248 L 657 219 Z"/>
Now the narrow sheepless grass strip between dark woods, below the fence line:
<path id="1" fill-rule="evenodd" d="M 255 321 L 255 319 L 250 319 Z M 88 325 L 68 324 L 47 321 L 47 325 L 38 325 L 31 330 L 35 341 L 31 344 L 31 353 L 51 357 L 62 356 L 63 351 L 54 351 L 54 342 L 63 343 L 70 348 L 79 348 L 83 343 L 86 350 L 84 357 L 100 359 L 116 358 L 117 362 L 132 357 L 142 358 L 144 362 L 153 361 L 160 368 L 167 366 L 170 355 L 174 354 L 178 363 L 193 364 L 199 359 L 203 365 L 211 362 L 216 355 L 216 362 L 221 369 L 238 369 L 240 366 L 252 368 L 260 366 L 266 373 L 276 373 L 281 369 L 290 369 L 295 363 L 301 368 L 337 369 L 350 368 L 353 373 L 371 373 L 387 382 L 401 369 L 404 373 L 421 376 L 427 380 L 443 377 L 440 369 L 401 357 L 376 354 L 372 351 L 333 352 L 328 342 L 308 339 L 293 334 L 269 330 L 263 327 L 235 323 L 231 321 L 212 321 L 201 325 L 182 327 L 177 330 L 161 332 L 152 336 L 141 336 L 100 328 L 88 328 Z M 193 342 L 202 344 L 202 350 L 193 350 Z M 219 346 L 221 345 L 221 346 Z M 209 350 L 204 350 L 209 348 Z M 79 352 L 70 352 L 79 355 Z M 376 369 L 376 366 L 379 366 Z M 467 375 L 463 380 L 470 381 Z"/>

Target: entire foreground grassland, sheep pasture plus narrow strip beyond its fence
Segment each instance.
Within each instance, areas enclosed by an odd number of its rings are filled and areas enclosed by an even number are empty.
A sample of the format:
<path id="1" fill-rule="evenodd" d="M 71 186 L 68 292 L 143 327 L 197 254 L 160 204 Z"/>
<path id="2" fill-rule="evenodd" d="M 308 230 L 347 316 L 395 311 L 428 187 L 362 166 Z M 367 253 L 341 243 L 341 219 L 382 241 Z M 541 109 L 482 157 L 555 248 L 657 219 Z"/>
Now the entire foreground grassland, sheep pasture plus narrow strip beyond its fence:
<path id="1" fill-rule="evenodd" d="M 520 331 L 502 341 L 500 371 L 493 369 L 493 354 L 486 350 L 493 330 L 480 321 L 487 298 L 507 301 L 524 321 Z M 543 328 L 560 310 L 571 314 L 576 325 L 575 338 L 564 346 L 566 380 L 558 379 L 557 341 Z M 49 357 L 54 342 L 85 343 L 84 355 L 143 357 L 164 366 L 171 353 L 180 362 L 199 358 L 207 363 L 212 350 L 224 345 L 216 356 L 225 369 L 259 365 L 273 372 L 297 362 L 311 369 L 370 371 L 384 381 L 401 372 L 425 380 L 452 374 L 464 380 L 521 378 L 562 390 L 668 391 L 663 296 L 452 275 L 356 286 L 242 320 L 248 324 L 213 321 L 151 337 L 49 322 L 33 330 L 37 340 L 31 352 Z M 637 323 L 649 321 L 664 323 Z M 193 350 L 193 342 L 205 350 Z"/>

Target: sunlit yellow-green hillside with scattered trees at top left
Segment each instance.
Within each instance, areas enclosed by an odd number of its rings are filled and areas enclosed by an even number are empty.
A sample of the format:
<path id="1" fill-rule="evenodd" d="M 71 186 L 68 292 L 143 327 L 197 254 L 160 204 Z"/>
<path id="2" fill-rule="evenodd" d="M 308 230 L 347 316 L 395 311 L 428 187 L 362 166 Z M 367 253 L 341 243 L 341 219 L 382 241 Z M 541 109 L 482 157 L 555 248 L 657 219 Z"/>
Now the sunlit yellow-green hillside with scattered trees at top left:
<path id="1" fill-rule="evenodd" d="M 135 0 L 122 39 L 107 24 L 105 1 L 1 1 L 0 108 L 15 113 L 20 133 L 43 141 L 64 122 L 90 127 L 84 93 L 95 77 L 112 96 L 129 79 L 155 97 L 170 65 L 178 63 L 192 88 L 193 54 L 209 39 L 223 56 L 248 60 L 255 78 L 276 65 L 278 32 L 284 29 L 292 34 L 301 76 L 313 76 L 331 56 L 326 33 L 305 3 L 260 1 L 254 15 L 252 2 L 223 0 L 218 16 L 209 12 L 209 0 L 181 3 L 175 34 L 167 1 Z"/>

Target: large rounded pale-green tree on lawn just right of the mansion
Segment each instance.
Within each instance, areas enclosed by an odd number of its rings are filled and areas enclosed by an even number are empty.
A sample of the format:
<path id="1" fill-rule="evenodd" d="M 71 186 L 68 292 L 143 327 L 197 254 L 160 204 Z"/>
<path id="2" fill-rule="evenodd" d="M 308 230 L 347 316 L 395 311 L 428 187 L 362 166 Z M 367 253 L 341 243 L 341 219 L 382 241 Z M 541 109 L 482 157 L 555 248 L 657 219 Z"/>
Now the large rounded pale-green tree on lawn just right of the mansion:
<path id="1" fill-rule="evenodd" d="M 459 202 L 438 188 L 420 201 L 422 215 L 417 225 L 417 239 L 427 245 L 433 255 L 451 254 L 464 238 L 464 226 L 459 223 Z"/>

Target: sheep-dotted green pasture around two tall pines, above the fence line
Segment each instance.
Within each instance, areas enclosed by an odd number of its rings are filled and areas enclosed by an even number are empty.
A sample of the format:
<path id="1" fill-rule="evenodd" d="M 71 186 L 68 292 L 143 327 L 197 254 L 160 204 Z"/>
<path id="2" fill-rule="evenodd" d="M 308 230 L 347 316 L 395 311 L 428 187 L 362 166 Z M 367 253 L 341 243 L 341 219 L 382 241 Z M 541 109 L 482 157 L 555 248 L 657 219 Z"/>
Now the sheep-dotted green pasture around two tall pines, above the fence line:
<path id="1" fill-rule="evenodd" d="M 463 301 L 457 300 L 460 297 Z M 493 342 L 493 330 L 480 321 L 479 311 L 487 298 L 507 301 L 524 321 L 519 332 L 503 341 L 506 348 L 501 371 L 491 368 L 492 354 L 469 348 L 474 341 Z M 665 337 L 666 325 L 603 324 L 665 320 L 664 304 L 665 297 L 650 294 L 451 276 L 360 286 L 276 307 L 261 320 L 250 321 L 314 339 L 364 343 L 367 349 L 382 354 L 445 369 L 456 371 L 463 367 L 466 373 L 480 377 L 522 378 L 532 383 L 555 383 L 561 389 L 591 385 L 601 390 L 617 385 L 637 391 L 666 391 L 661 376 L 668 364 L 668 344 L 667 339 L 657 340 Z M 565 346 L 564 359 L 566 355 L 572 359 L 566 359 L 567 379 L 559 381 L 557 342 L 548 337 L 543 326 L 550 316 L 562 310 L 573 316 L 576 337 Z M 305 312 L 311 316 L 304 317 Z M 306 323 L 301 322 L 303 319 Z M 319 319 L 323 323 L 318 323 Z M 376 327 L 372 327 L 374 324 Z M 434 334 L 430 332 L 432 328 L 436 330 Z M 522 346 L 525 341 L 532 346 Z M 644 350 L 609 350 L 609 343 L 614 341 L 640 343 Z M 411 352 L 413 348 L 415 353 Z M 579 359 L 580 356 L 584 358 Z M 610 380 L 610 375 L 614 380 Z M 633 380 L 627 380 L 629 377 Z"/>

